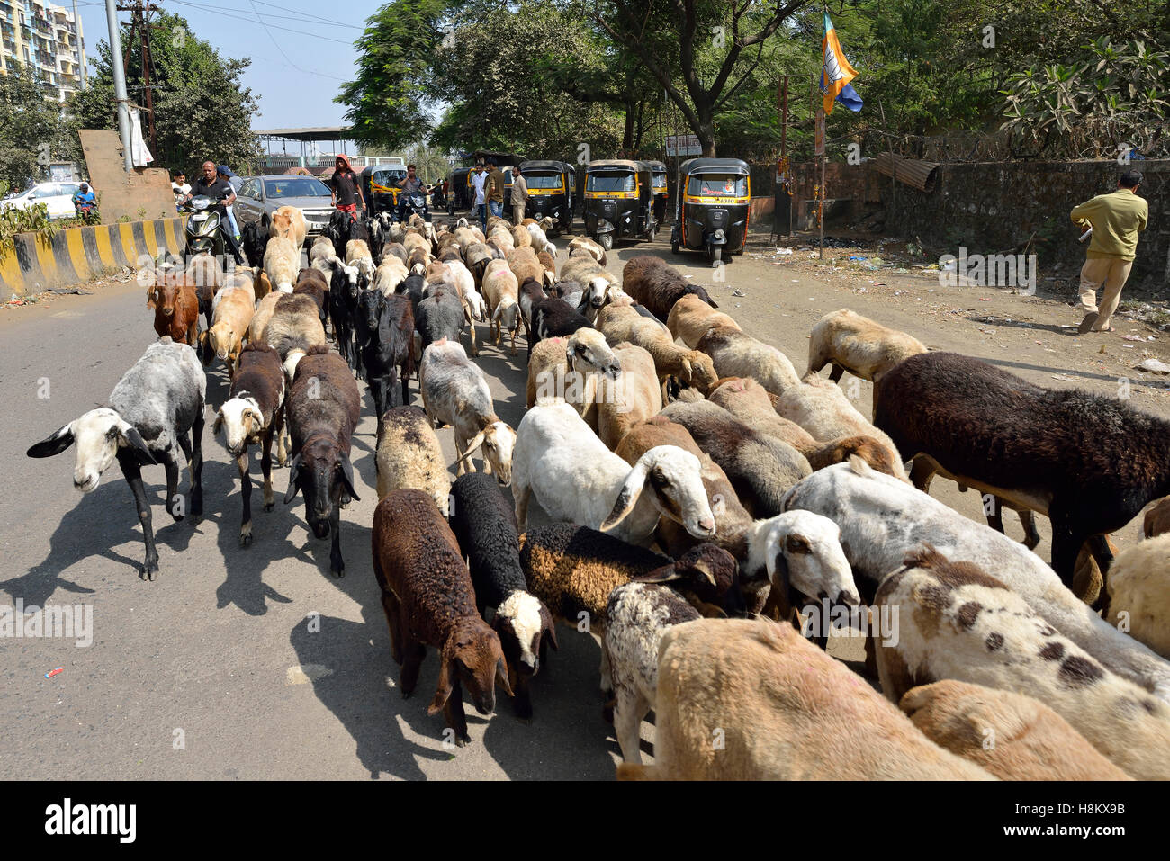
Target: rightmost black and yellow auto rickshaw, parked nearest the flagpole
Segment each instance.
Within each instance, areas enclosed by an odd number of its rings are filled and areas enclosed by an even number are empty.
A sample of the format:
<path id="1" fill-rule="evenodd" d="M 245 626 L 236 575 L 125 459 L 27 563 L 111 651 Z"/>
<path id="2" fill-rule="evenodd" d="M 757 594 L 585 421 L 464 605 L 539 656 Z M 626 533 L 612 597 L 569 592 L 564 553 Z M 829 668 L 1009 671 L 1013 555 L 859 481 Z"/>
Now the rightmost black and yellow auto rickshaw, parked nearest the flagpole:
<path id="1" fill-rule="evenodd" d="M 737 158 L 691 158 L 679 165 L 670 250 L 706 250 L 711 266 L 743 254 L 748 242 L 751 175 Z"/>

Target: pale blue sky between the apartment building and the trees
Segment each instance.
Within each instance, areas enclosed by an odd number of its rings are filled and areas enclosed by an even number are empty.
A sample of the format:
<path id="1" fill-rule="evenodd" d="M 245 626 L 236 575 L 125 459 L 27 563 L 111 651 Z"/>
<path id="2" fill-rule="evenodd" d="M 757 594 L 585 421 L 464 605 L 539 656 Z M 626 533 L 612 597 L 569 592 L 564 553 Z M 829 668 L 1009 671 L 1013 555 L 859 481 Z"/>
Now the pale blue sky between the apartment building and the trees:
<path id="1" fill-rule="evenodd" d="M 254 129 L 345 125 L 345 106 L 333 103 L 356 74 L 353 41 L 386 0 L 154 0 L 183 15 L 191 32 L 221 56 L 250 57 L 243 84 L 259 97 Z M 55 0 L 71 8 L 71 0 Z M 109 40 L 105 4 L 78 0 L 87 57 Z M 129 12 L 119 12 L 129 21 Z"/>

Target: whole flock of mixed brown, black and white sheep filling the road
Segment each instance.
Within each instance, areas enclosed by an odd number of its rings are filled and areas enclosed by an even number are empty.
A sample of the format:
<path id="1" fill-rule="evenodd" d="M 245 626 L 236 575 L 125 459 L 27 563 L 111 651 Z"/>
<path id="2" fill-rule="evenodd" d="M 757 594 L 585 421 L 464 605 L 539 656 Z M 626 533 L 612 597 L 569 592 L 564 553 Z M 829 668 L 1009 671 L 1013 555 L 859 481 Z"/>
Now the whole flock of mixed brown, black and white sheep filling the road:
<path id="1" fill-rule="evenodd" d="M 153 579 L 142 467 L 165 467 L 176 519 L 201 514 L 205 367 L 219 358 L 232 385 L 213 432 L 239 464 L 241 545 L 249 448 L 269 510 L 275 441 L 284 501 L 303 494 L 340 577 L 357 376 L 378 418 L 371 551 L 399 687 L 413 694 L 436 649 L 428 710 L 459 744 L 464 691 L 490 714 L 498 687 L 532 717 L 563 621 L 600 643 L 622 778 L 1170 777 L 1170 503 L 1116 559 L 1107 539 L 1170 495 L 1170 423 L 847 310 L 815 325 L 801 377 L 662 260 L 633 257 L 619 278 L 578 237 L 558 264 L 548 228 L 338 214 L 305 260 L 303 218 L 278 211 L 247 227 L 250 267 L 225 276 L 195 257 L 151 275 L 159 340 L 108 406 L 28 454 L 76 445 L 82 491 L 117 460 Z M 516 428 L 472 358 L 476 322 L 512 356 L 526 337 Z M 873 420 L 838 387 L 845 371 L 874 381 Z M 985 494 L 990 525 L 927 495 L 934 475 Z M 551 525 L 529 528 L 534 497 Z M 1026 545 L 1004 535 L 1005 505 Z M 1035 511 L 1052 521 L 1052 566 L 1032 552 Z M 1094 564 L 1096 608 L 1072 591 Z M 807 629 L 817 602 L 861 626 L 897 615 L 897 636 L 866 640 L 869 680 Z"/>

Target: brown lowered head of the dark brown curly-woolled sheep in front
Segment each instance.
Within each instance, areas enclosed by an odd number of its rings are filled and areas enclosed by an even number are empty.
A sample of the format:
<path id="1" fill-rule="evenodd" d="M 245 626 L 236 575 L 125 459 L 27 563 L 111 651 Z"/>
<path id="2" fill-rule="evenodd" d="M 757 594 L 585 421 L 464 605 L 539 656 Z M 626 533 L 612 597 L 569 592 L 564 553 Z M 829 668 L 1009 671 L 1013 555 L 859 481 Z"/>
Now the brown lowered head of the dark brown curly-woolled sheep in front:
<path id="1" fill-rule="evenodd" d="M 500 636 L 477 615 L 460 617 L 452 626 L 440 655 L 439 688 L 427 714 L 434 715 L 447 705 L 456 681 L 481 715 L 495 711 L 496 682 L 512 696 Z"/>

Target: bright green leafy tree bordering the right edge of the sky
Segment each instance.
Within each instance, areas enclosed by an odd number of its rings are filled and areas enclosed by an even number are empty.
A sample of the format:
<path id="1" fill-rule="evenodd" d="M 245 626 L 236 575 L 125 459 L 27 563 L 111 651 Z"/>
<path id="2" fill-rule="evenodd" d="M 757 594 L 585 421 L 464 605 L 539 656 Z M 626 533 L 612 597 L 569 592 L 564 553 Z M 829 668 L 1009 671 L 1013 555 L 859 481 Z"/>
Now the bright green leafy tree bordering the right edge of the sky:
<path id="1" fill-rule="evenodd" d="M 392 0 L 366 21 L 357 78 L 333 99 L 349 106 L 355 140 L 397 150 L 431 130 L 431 62 L 448 35 L 449 7 L 448 0 Z"/>

